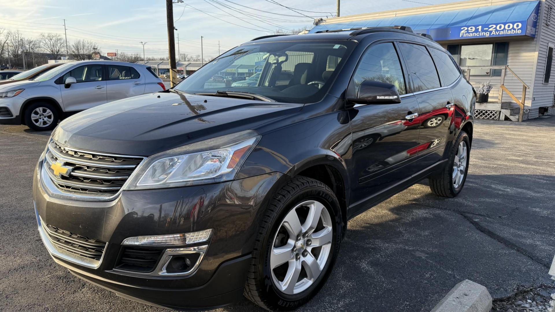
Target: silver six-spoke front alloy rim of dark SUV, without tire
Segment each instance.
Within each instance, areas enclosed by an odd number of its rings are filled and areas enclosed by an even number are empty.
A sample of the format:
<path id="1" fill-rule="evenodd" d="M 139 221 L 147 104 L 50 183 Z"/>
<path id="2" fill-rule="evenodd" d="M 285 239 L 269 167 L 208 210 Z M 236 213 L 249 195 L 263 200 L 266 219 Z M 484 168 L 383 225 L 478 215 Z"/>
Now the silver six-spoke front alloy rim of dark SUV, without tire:
<path id="1" fill-rule="evenodd" d="M 330 258 L 333 231 L 324 204 L 306 200 L 291 209 L 281 221 L 270 251 L 276 288 L 295 295 L 314 284 Z"/>

